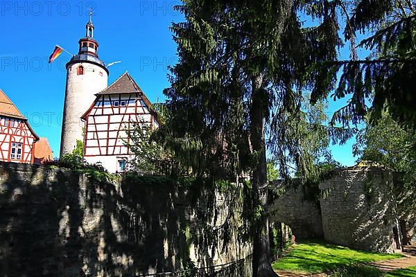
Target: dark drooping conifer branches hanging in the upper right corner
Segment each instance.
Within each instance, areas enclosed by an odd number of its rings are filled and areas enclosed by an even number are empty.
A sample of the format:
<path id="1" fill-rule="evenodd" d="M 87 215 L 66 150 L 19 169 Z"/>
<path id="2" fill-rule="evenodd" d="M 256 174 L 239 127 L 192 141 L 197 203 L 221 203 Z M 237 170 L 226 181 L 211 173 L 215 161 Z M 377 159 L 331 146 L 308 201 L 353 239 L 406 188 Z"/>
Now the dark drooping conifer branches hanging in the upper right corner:
<path id="1" fill-rule="evenodd" d="M 354 2 L 352 14 L 345 15 L 345 37 L 353 42 L 356 32 L 369 33 L 357 47 L 373 52 L 365 60 L 356 60 L 355 55 L 354 60 L 325 62 L 315 68 L 318 78 L 313 102 L 329 93 L 334 100 L 350 96 L 348 104 L 333 114 L 333 122 L 356 124 L 369 110 L 373 111 L 372 120 L 378 120 L 387 105 L 393 118 L 415 127 L 415 4 L 406 0 Z M 370 108 L 367 102 L 372 102 Z"/>

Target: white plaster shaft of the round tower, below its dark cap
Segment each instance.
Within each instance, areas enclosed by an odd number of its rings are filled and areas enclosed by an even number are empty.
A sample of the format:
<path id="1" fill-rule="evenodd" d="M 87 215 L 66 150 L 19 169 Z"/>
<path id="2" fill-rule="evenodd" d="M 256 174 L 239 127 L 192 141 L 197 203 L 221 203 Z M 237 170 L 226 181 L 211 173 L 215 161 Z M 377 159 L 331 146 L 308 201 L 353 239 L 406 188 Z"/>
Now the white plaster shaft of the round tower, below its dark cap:
<path id="1" fill-rule="evenodd" d="M 77 68 L 80 65 L 84 66 L 84 75 L 77 75 Z M 94 94 L 107 87 L 107 79 L 107 71 L 89 62 L 71 64 L 68 67 L 62 119 L 61 156 L 72 152 L 77 139 L 83 141 L 84 123 L 80 117 L 94 102 L 96 97 Z"/>

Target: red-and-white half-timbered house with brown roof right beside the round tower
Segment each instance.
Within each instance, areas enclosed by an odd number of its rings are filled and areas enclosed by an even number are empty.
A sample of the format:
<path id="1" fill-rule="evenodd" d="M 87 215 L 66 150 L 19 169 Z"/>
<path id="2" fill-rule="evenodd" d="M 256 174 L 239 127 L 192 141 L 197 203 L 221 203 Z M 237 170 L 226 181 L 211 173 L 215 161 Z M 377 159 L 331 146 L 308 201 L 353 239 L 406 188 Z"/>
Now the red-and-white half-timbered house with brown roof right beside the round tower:
<path id="1" fill-rule="evenodd" d="M 157 113 L 139 85 L 127 72 L 96 94 L 83 114 L 84 158 L 101 163 L 109 172 L 123 172 L 132 159 L 126 130 L 132 122 L 157 128 Z"/>

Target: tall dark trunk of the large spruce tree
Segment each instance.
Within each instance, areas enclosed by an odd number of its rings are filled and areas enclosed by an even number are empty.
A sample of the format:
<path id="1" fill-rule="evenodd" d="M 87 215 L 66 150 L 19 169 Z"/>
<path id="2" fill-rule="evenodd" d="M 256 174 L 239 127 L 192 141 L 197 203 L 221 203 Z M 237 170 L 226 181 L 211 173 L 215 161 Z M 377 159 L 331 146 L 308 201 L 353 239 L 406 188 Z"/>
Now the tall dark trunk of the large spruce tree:
<path id="1" fill-rule="evenodd" d="M 261 215 L 254 223 L 253 239 L 253 277 L 277 276 L 270 260 L 270 240 L 268 234 L 267 176 L 266 176 L 266 139 L 264 136 L 265 109 L 268 108 L 266 97 L 261 89 L 261 75 L 252 81 L 252 103 L 250 111 L 250 141 L 252 152 L 257 157 L 257 164 L 252 172 L 252 197 L 254 203 L 261 206 Z"/>

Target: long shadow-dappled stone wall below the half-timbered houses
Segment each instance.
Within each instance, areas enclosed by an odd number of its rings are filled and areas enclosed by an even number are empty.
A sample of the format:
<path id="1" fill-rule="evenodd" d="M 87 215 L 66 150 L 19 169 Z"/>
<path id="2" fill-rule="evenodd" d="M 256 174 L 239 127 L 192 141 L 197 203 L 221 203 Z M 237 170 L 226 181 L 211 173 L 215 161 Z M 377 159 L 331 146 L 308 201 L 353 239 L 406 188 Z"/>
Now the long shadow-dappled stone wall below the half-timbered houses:
<path id="1" fill-rule="evenodd" d="M 232 194 L 196 193 L 168 179 L 89 180 L 0 163 L 2 276 L 134 276 L 251 253 L 236 231 L 239 213 L 229 213 Z"/>

